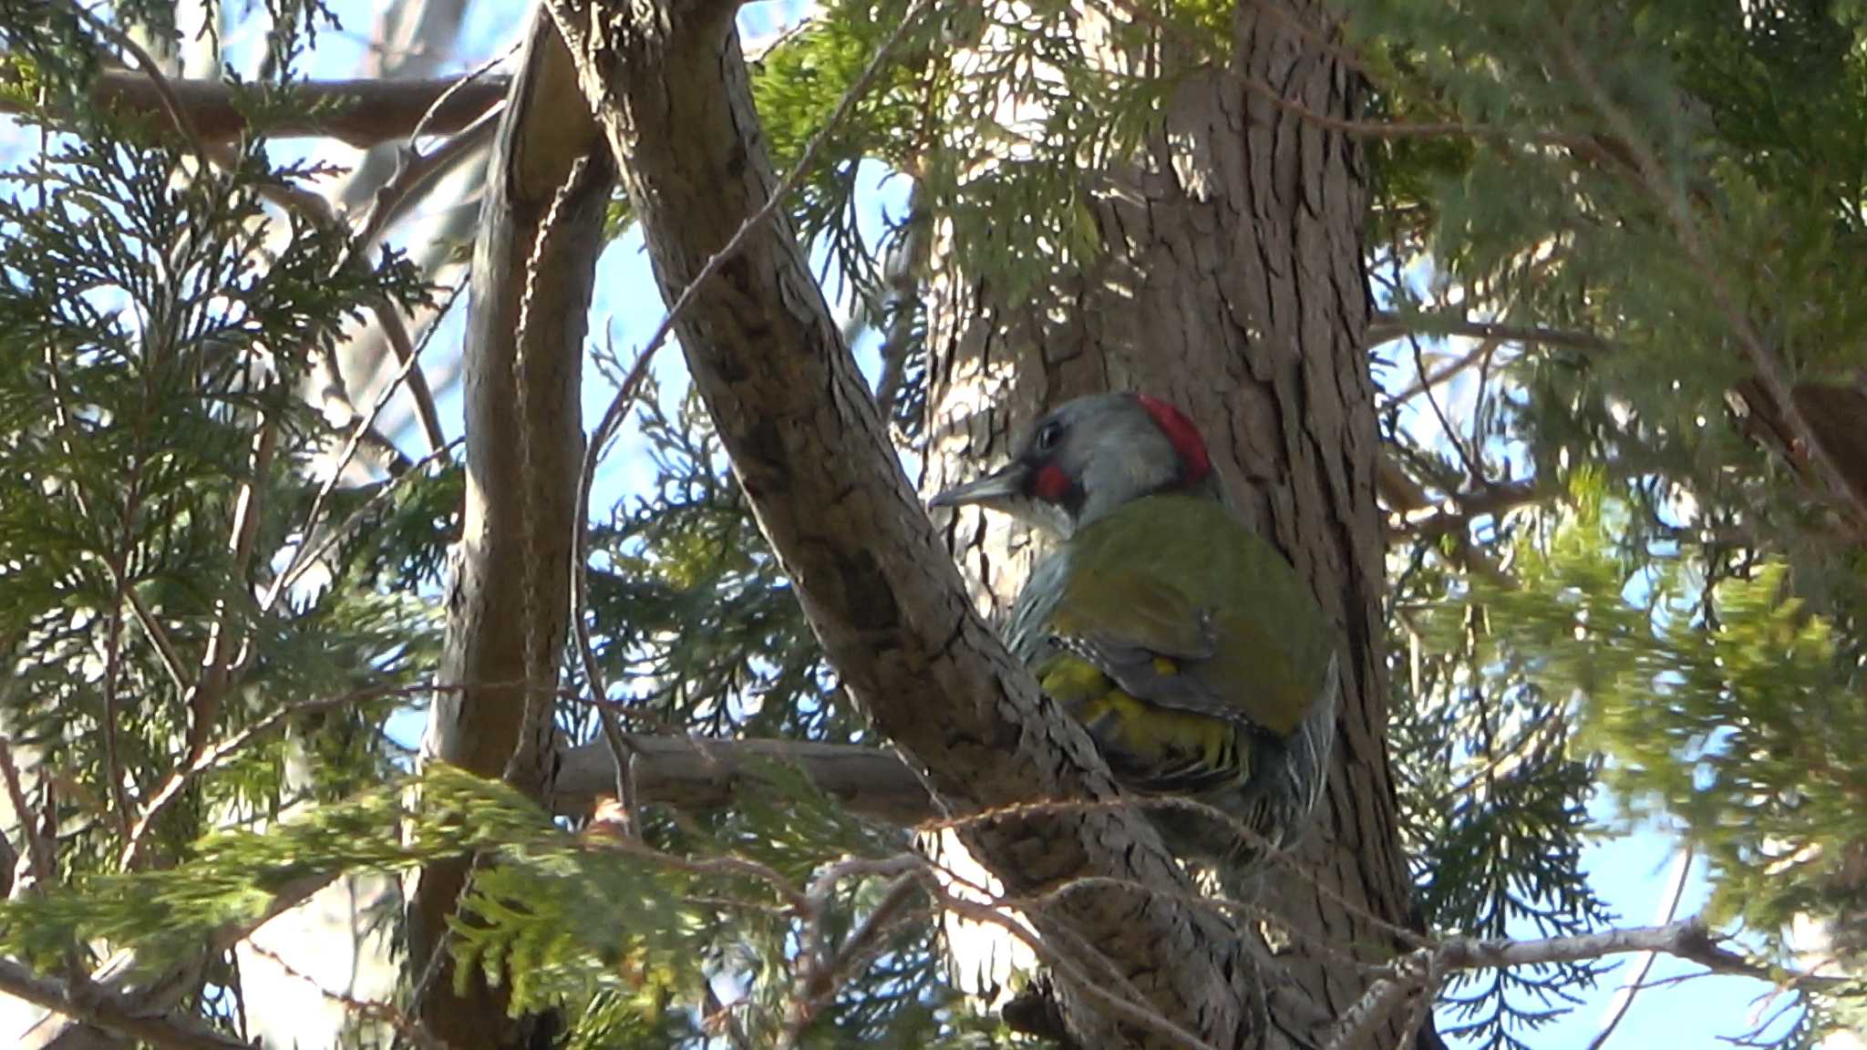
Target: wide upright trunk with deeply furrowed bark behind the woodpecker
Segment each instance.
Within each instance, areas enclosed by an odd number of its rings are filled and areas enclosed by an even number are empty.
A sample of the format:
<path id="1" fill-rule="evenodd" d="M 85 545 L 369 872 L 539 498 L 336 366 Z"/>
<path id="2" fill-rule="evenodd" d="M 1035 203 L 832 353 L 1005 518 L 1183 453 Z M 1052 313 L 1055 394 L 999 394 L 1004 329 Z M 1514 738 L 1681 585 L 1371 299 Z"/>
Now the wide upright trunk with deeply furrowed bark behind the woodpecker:
<path id="1" fill-rule="evenodd" d="M 1313 114 L 1352 118 L 1354 73 L 1290 24 L 1329 39 L 1324 19 L 1307 0 L 1240 4 L 1232 69 Z M 1385 753 L 1365 168 L 1346 136 L 1236 73 L 1191 78 L 1148 161 L 1096 187 L 1107 254 L 1090 273 L 1014 305 L 950 252 L 935 260 L 926 486 L 1001 463 L 1038 415 L 1085 392 L 1154 392 L 1199 422 L 1242 516 L 1290 555 L 1348 645 L 1329 792 L 1296 854 L 1316 878 L 1273 869 L 1262 901 L 1298 934 L 1292 977 L 1333 1016 L 1365 981 L 1307 945 L 1374 962 L 1395 938 L 1367 915 L 1408 925 Z M 945 531 L 1003 613 L 1031 536 L 978 512 Z M 1397 1033 L 1369 1037 L 1393 1046 Z"/>

